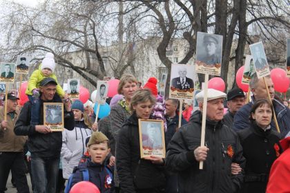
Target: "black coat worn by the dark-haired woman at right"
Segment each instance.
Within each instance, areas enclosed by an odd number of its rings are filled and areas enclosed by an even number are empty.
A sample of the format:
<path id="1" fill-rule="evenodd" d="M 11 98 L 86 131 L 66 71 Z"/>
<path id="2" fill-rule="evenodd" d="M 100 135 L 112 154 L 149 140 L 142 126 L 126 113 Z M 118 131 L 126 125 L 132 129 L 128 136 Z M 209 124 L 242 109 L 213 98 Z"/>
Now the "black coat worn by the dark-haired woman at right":
<path id="1" fill-rule="evenodd" d="M 242 192 L 266 192 L 271 165 L 282 150 L 277 146 L 280 134 L 274 130 L 262 130 L 255 121 L 251 121 L 250 128 L 238 132 L 243 148 L 245 167 L 244 186 Z M 274 145 L 278 147 L 278 154 Z"/>

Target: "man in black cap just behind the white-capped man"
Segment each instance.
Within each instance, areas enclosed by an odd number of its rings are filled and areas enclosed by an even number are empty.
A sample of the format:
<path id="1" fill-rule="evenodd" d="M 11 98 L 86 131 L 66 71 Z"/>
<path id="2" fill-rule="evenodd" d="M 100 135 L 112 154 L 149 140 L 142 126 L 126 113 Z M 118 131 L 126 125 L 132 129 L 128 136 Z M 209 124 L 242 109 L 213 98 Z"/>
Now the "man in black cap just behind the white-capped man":
<path id="1" fill-rule="evenodd" d="M 224 125 L 233 129 L 233 117 L 245 103 L 244 92 L 240 88 L 233 88 L 226 94 L 226 105 L 228 112 L 224 114 Z"/>

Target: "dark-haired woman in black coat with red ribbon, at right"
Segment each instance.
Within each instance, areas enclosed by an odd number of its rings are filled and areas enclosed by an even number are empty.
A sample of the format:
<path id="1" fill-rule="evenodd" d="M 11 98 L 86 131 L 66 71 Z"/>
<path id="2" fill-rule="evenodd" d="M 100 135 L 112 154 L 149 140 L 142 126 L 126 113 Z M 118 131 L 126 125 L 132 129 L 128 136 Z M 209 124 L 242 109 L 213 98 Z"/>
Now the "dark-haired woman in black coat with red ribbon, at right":
<path id="1" fill-rule="evenodd" d="M 242 192 L 266 192 L 271 165 L 281 153 L 280 134 L 271 129 L 273 106 L 270 101 L 255 101 L 250 112 L 250 128 L 238 132 L 247 159 Z"/>

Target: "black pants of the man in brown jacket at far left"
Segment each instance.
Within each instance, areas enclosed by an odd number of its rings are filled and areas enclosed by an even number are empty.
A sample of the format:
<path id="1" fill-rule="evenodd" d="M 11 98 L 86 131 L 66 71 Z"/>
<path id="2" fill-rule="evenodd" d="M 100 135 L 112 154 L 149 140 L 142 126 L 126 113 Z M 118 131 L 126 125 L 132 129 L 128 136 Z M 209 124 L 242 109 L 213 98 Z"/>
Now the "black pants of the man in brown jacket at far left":
<path id="1" fill-rule="evenodd" d="M 6 188 L 10 170 L 14 176 L 17 192 L 29 193 L 23 152 L 0 152 L 0 193 Z"/>

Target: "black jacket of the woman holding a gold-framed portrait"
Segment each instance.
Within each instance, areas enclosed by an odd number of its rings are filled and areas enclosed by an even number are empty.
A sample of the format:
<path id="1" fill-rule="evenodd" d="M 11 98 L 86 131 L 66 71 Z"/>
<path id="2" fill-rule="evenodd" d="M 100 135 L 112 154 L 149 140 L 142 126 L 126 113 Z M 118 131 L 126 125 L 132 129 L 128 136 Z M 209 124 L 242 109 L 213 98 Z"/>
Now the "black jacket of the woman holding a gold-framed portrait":
<path id="1" fill-rule="evenodd" d="M 164 167 L 140 159 L 139 130 L 136 114 L 122 126 L 116 147 L 117 171 L 122 192 L 164 190 Z"/>

